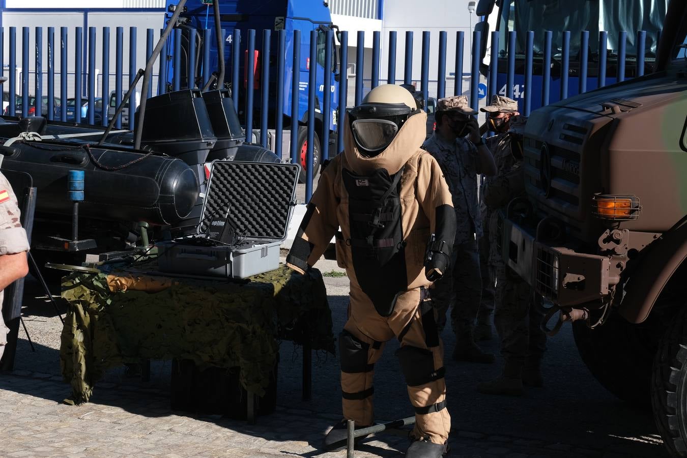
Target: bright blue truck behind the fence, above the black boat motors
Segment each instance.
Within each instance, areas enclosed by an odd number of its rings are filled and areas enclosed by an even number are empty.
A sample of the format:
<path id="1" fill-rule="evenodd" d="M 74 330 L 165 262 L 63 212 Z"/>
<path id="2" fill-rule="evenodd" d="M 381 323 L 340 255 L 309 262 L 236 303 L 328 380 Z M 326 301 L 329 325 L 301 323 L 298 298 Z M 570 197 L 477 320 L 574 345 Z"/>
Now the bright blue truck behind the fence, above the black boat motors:
<path id="1" fill-rule="evenodd" d="M 201 71 L 203 65 L 203 31 L 210 30 L 210 67 L 212 71 L 216 71 L 218 65 L 218 49 L 216 48 L 215 28 L 213 21 L 213 0 L 188 0 L 185 5 L 185 11 L 181 13 L 177 25 L 181 29 L 181 87 L 189 87 L 189 82 L 194 82 L 196 87 L 202 87 Z M 174 10 L 177 0 L 167 0 L 168 11 Z M 307 119 L 308 119 L 308 78 L 310 65 L 310 35 L 311 31 L 317 31 L 317 89 L 315 100 L 315 145 L 313 147 L 313 176 L 317 173 L 319 163 L 322 159 L 322 152 L 320 148 L 320 138 L 322 136 L 323 117 L 329 117 L 329 144 L 334 150 L 336 144 L 336 130 L 339 120 L 338 116 L 338 100 L 339 100 L 339 80 L 340 69 L 339 58 L 333 44 L 332 49 L 332 66 L 330 69 L 324 68 L 325 63 L 325 49 L 326 49 L 326 32 L 333 30 L 336 32 L 336 26 L 333 25 L 330 11 L 328 8 L 328 1 L 323 0 L 220 0 L 219 12 L 221 18 L 221 28 L 224 36 L 224 60 L 225 60 L 225 87 L 231 89 L 232 97 L 239 98 L 238 114 L 245 126 L 246 114 L 246 92 L 247 92 L 247 33 L 248 30 L 256 31 L 255 49 L 256 59 L 254 64 L 255 78 L 254 78 L 254 116 L 251 128 L 254 128 L 254 134 L 260 124 L 260 114 L 262 109 L 269 111 L 269 125 L 268 128 L 275 128 L 275 119 L 277 115 L 281 115 L 283 119 L 283 126 L 288 130 L 284 130 L 282 137 L 282 156 L 284 158 L 290 157 L 290 145 L 292 128 L 298 129 L 297 135 L 297 152 L 298 161 L 303 170 L 306 166 L 306 150 L 307 150 Z M 170 13 L 171 14 L 171 13 Z M 168 16 L 170 16 L 168 14 Z M 232 62 L 234 58 L 232 52 L 234 51 L 233 32 L 240 30 L 241 43 L 240 52 L 243 56 L 238 59 L 239 63 L 239 87 L 231 87 Z M 271 53 L 269 58 L 262 56 L 262 31 L 271 30 Z M 277 91 L 277 49 L 278 49 L 278 34 L 279 30 L 286 31 L 286 56 L 284 59 L 284 104 L 276 106 L 276 91 Z M 291 115 L 291 99 L 293 93 L 291 90 L 292 80 L 291 75 L 293 71 L 293 31 L 300 30 L 300 71 L 298 72 L 300 78 L 298 97 L 298 113 L 293 119 Z M 192 38 L 194 37 L 194 38 Z M 188 71 L 188 56 L 190 51 L 190 43 L 195 43 L 194 55 L 196 56 L 196 65 L 192 71 Z M 332 42 L 334 43 L 334 42 Z M 171 85 L 174 76 L 174 47 L 168 46 L 168 58 L 166 63 L 165 75 L 163 78 Z M 261 69 L 264 62 L 269 62 L 269 103 L 263 104 L 261 100 L 262 84 Z M 330 72 L 330 87 L 324 88 L 324 74 Z M 207 73 L 206 73 L 207 74 Z M 330 98 L 330 112 L 322 113 L 324 106 L 324 98 Z M 272 135 L 273 139 L 274 136 Z M 251 139 L 247 139 L 251 141 Z M 275 145 L 271 142 L 272 147 Z M 304 178 L 305 172 L 302 173 Z"/>

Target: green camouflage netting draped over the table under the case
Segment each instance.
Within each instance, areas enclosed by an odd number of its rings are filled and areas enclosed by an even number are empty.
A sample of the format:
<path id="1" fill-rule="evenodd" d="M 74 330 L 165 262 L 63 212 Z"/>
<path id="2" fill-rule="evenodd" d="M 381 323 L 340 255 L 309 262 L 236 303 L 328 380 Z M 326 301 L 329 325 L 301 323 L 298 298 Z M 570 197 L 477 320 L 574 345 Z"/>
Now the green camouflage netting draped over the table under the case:
<path id="1" fill-rule="evenodd" d="M 112 275 L 109 279 L 113 283 Z M 132 279 L 145 283 L 151 277 Z M 299 275 L 280 266 L 247 284 L 176 282 L 157 293 L 134 288 L 112 293 L 105 274 L 74 273 L 63 279 L 69 312 L 60 363 L 71 384 L 71 402 L 88 402 L 93 385 L 111 367 L 171 358 L 194 360 L 201 369 L 240 367 L 243 387 L 262 396 L 278 341 L 335 352 L 331 312 L 317 269 Z M 155 284 L 153 290 L 159 277 Z"/>

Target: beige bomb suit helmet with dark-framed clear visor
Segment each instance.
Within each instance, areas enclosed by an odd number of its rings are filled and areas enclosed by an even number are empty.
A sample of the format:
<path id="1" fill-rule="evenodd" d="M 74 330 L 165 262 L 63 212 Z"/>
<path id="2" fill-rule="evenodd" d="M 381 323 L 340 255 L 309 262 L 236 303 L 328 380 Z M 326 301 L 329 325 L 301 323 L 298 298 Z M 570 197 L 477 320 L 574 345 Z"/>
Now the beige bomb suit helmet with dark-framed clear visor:
<path id="1" fill-rule="evenodd" d="M 355 146 L 363 156 L 380 154 L 409 117 L 421 112 L 413 95 L 401 86 L 382 84 L 372 89 L 348 112 Z"/>

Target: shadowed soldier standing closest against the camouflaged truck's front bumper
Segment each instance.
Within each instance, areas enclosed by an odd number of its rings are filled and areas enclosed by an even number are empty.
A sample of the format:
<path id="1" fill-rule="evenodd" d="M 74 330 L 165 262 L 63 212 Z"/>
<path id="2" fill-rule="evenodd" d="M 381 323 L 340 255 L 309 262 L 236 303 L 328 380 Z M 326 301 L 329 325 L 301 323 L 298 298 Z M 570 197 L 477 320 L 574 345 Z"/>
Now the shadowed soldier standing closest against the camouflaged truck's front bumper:
<path id="1" fill-rule="evenodd" d="M 543 314 L 532 304 L 532 290 L 523 279 L 511 271 L 497 251 L 497 225 L 499 209 L 505 209 L 511 199 L 525 191 L 523 174 L 522 133 L 526 118 L 516 116 L 511 122 L 510 148 L 501 148 L 496 162 L 497 176 L 488 179 L 484 186 L 484 202 L 491 209 L 489 222 L 493 237 L 490 259 L 496 266 L 496 309 L 494 321 L 501 339 L 504 357 L 502 374 L 489 382 L 477 385 L 477 390 L 488 394 L 519 396 L 523 385 L 541 387 L 539 366 L 546 350 L 546 335 L 539 327 Z"/>

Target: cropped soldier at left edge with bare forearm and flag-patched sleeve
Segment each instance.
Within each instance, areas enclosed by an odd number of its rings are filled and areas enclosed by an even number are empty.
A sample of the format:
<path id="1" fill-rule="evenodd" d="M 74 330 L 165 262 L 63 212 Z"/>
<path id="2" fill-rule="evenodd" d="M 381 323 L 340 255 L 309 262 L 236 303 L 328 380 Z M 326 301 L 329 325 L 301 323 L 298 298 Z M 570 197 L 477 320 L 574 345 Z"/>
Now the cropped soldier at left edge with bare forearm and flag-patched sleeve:
<path id="1" fill-rule="evenodd" d="M 29 242 L 19 222 L 19 208 L 10 183 L 0 173 L 0 358 L 10 330 L 2 318 L 3 290 L 29 271 L 26 251 Z"/>

